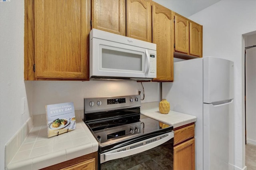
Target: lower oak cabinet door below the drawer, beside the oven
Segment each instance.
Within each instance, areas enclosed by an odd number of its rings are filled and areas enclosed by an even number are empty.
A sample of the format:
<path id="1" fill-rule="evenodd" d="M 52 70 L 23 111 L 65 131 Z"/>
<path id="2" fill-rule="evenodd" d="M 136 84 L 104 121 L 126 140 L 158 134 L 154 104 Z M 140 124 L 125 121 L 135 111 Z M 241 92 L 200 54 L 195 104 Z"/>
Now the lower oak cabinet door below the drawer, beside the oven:
<path id="1" fill-rule="evenodd" d="M 174 147 L 174 170 L 195 170 L 195 139 Z"/>

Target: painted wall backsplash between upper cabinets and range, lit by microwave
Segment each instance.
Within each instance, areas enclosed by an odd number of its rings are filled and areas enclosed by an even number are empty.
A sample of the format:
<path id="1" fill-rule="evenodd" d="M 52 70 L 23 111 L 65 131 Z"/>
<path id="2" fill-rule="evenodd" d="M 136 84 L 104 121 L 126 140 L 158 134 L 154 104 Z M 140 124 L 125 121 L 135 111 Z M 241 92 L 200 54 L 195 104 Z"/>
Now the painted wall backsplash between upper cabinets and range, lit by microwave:
<path id="1" fill-rule="evenodd" d="M 74 102 L 75 110 L 84 109 L 84 98 L 136 95 L 143 87 L 142 103 L 161 100 L 161 83 L 136 81 L 33 81 L 32 115 L 45 113 L 45 105 Z M 143 87 L 142 87 L 143 85 Z M 30 112 L 31 113 L 31 112 Z"/>

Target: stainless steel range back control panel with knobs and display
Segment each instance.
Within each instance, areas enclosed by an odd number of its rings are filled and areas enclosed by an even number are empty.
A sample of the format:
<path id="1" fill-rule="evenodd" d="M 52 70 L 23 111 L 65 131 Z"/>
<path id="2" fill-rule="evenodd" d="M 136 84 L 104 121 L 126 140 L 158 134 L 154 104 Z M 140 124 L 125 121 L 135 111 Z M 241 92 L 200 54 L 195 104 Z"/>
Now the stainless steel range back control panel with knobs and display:
<path id="1" fill-rule="evenodd" d="M 116 109 L 140 107 L 140 95 L 120 97 L 84 98 L 84 112 L 110 111 Z"/>

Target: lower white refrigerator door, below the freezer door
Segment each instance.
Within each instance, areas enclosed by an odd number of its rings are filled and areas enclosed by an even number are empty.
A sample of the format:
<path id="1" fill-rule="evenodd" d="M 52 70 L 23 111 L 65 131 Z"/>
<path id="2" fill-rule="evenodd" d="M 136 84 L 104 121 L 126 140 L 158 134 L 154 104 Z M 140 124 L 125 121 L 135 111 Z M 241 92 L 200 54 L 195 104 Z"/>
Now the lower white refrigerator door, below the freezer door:
<path id="1" fill-rule="evenodd" d="M 234 164 L 233 103 L 203 104 L 204 170 L 229 170 Z"/>

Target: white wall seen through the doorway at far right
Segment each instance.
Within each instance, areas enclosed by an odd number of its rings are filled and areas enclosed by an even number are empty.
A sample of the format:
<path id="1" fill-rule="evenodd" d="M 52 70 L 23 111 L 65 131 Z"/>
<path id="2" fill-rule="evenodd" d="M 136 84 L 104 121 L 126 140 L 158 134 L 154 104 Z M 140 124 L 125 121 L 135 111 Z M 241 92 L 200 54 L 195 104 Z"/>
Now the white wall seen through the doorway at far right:
<path id="1" fill-rule="evenodd" d="M 256 45 L 256 34 L 246 36 L 245 46 Z M 246 49 L 246 141 L 256 145 L 256 47 Z"/>

